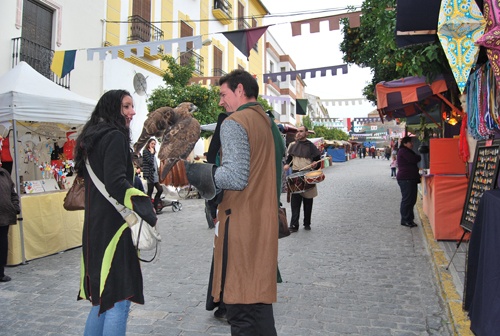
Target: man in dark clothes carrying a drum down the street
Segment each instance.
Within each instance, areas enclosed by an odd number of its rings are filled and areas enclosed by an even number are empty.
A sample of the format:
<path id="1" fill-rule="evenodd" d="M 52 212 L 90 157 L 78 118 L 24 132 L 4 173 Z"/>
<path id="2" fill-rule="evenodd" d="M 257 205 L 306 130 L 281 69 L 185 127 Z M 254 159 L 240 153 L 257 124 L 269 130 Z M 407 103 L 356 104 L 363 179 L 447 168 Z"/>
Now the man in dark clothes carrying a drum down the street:
<path id="1" fill-rule="evenodd" d="M 306 126 L 300 126 L 295 135 L 295 141 L 288 145 L 288 156 L 285 170 L 292 167 L 292 172 L 301 171 L 315 161 L 321 159 L 321 152 L 309 140 L 307 140 L 308 129 Z M 320 168 L 320 163 L 313 165 L 310 169 Z M 313 198 L 318 196 L 316 185 L 303 193 L 293 193 L 291 195 L 292 218 L 290 219 L 290 231 L 297 232 L 299 229 L 300 208 L 304 203 L 304 229 L 311 230 L 311 215 L 313 207 Z"/>

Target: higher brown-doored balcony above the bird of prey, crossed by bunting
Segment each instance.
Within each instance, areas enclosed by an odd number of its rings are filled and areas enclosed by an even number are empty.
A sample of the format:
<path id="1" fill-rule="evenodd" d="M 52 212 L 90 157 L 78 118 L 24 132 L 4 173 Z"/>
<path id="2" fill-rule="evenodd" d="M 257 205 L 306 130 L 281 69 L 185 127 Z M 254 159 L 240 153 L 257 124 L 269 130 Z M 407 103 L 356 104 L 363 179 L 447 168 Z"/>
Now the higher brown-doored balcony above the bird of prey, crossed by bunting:
<path id="1" fill-rule="evenodd" d="M 130 27 L 130 35 L 128 36 L 128 43 L 135 44 L 141 42 L 153 42 L 163 40 L 163 30 L 153 25 L 146 19 L 139 15 L 132 15 L 128 18 Z M 156 55 L 151 55 L 149 48 L 144 49 L 144 57 L 151 60 L 161 59 L 163 50 L 159 47 Z"/>

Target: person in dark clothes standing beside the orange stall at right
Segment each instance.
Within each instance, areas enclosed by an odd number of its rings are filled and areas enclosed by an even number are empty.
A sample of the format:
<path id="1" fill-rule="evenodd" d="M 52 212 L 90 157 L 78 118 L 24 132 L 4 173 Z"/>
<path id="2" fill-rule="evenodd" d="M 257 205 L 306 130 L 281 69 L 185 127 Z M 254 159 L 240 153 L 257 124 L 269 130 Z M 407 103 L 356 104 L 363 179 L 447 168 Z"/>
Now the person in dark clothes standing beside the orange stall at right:
<path id="1" fill-rule="evenodd" d="M 413 207 L 417 203 L 417 185 L 420 183 L 418 163 L 422 158 L 413 151 L 412 138 L 406 136 L 401 139 L 401 147 L 398 150 L 397 162 L 399 188 L 401 189 L 401 225 L 412 228 L 417 226 L 413 221 Z"/>

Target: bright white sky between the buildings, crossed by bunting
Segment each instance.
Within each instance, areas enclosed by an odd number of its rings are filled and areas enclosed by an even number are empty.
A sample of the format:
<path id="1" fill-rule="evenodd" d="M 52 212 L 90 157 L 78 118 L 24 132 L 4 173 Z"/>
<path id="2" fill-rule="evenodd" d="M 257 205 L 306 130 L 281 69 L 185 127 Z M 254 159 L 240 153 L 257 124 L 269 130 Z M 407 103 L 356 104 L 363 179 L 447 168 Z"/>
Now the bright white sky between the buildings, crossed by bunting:
<path id="1" fill-rule="evenodd" d="M 362 0 L 263 0 L 271 13 L 264 24 L 270 24 L 268 30 L 278 44 L 290 55 L 297 70 L 340 65 L 342 42 L 340 30 L 330 31 L 328 22 L 320 25 L 319 33 L 310 33 L 308 25 L 302 26 L 302 34 L 292 37 L 290 22 L 313 17 L 325 17 L 346 12 L 347 6 L 360 7 Z M 299 15 L 300 14 L 300 15 Z M 362 89 L 371 80 L 370 69 L 350 66 L 348 74 L 326 77 L 305 78 L 306 92 L 321 99 L 364 98 Z M 342 106 L 325 105 L 330 117 L 354 118 L 366 117 L 375 109 L 368 101 L 343 104 Z"/>

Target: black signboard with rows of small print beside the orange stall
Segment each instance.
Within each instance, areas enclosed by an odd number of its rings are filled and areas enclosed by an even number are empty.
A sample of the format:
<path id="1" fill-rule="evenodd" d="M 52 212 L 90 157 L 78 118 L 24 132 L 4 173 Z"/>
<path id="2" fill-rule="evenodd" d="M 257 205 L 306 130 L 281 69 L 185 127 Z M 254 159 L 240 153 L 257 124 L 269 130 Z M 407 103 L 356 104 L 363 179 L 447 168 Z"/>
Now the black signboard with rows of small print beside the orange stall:
<path id="1" fill-rule="evenodd" d="M 472 231 L 483 193 L 495 188 L 500 158 L 500 139 L 478 141 L 460 226 Z"/>

